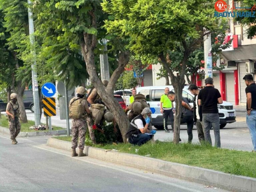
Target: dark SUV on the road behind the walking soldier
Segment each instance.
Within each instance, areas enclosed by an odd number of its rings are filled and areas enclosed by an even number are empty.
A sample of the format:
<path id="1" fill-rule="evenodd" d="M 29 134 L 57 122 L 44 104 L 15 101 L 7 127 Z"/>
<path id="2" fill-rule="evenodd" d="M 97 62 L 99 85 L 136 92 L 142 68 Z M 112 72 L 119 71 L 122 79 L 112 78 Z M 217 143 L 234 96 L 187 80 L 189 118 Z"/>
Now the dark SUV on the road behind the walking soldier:
<path id="1" fill-rule="evenodd" d="M 33 100 L 33 91 L 32 90 L 25 90 L 23 95 L 23 103 L 25 109 L 30 109 L 31 112 L 34 112 L 34 100 Z M 0 110 L 6 110 L 7 103 L 4 103 L 3 100 L 0 99 Z"/>

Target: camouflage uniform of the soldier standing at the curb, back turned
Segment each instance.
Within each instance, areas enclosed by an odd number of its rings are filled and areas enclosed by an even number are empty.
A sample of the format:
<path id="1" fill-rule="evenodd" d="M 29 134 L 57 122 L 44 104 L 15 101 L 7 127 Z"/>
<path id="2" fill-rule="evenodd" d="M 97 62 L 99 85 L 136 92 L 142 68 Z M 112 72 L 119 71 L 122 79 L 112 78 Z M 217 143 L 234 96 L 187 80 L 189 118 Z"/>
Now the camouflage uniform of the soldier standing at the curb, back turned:
<path id="1" fill-rule="evenodd" d="M 77 97 L 78 98 L 78 97 Z M 69 107 L 71 106 L 71 103 L 77 99 L 77 98 L 73 98 L 70 100 L 69 103 Z M 76 148 L 77 144 L 78 144 L 78 137 L 79 137 L 79 145 L 78 148 L 79 149 L 84 149 L 84 141 L 85 141 L 85 134 L 86 134 L 86 108 L 88 107 L 88 103 L 85 99 L 83 99 L 81 101 L 81 105 L 82 105 L 82 114 L 83 116 L 80 119 L 72 119 L 72 144 L 71 144 L 71 148 Z"/>

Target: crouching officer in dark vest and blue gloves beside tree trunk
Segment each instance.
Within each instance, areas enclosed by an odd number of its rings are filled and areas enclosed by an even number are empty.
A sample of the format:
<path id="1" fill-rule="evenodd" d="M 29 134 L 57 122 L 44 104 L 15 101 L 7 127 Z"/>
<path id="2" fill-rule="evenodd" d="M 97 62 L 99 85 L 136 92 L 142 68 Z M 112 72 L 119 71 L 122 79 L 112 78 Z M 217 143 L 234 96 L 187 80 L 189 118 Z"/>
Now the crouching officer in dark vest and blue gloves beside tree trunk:
<path id="1" fill-rule="evenodd" d="M 130 128 L 126 133 L 129 143 L 140 146 L 152 139 L 156 131 L 148 130 L 151 113 L 150 108 L 146 107 L 140 115 L 131 121 Z"/>

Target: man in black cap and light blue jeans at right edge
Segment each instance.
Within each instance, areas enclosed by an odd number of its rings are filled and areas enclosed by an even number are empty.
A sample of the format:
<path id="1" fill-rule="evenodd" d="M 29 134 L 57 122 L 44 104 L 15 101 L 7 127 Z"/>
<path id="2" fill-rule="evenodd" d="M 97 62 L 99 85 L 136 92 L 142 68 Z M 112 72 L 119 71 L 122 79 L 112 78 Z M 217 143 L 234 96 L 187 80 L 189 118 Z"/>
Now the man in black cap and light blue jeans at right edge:
<path id="1" fill-rule="evenodd" d="M 250 130 L 253 152 L 256 152 L 256 84 L 253 81 L 253 76 L 251 74 L 244 76 L 244 81 L 247 87 L 245 88 L 245 93 L 247 97 L 246 103 L 246 124 Z"/>

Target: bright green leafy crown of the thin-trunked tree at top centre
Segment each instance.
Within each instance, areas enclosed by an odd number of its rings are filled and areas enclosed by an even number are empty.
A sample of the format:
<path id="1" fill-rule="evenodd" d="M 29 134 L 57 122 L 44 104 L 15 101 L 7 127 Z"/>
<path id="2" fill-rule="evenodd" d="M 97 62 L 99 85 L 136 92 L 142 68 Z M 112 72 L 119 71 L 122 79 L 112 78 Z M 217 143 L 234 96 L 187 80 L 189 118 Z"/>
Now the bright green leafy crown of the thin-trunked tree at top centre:
<path id="1" fill-rule="evenodd" d="M 209 17 L 213 1 L 103 0 L 102 6 L 115 18 L 106 21 L 107 31 L 129 36 L 131 50 L 145 57 L 173 50 L 175 42 L 187 37 L 199 38 L 198 26 L 217 27 L 216 19 Z"/>

